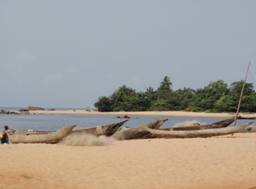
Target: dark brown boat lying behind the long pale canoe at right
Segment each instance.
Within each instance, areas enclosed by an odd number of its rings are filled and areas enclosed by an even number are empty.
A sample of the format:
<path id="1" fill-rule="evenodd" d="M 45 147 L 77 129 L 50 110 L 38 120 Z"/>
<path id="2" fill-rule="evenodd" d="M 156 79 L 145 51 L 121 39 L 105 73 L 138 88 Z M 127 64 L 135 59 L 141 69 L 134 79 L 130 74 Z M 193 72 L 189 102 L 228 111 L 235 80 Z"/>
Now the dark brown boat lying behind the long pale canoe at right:
<path id="1" fill-rule="evenodd" d="M 201 124 L 201 125 L 178 125 L 171 128 L 159 128 L 162 131 L 190 131 L 190 130 L 200 130 L 200 129 L 210 129 L 210 128 L 226 128 L 234 122 L 234 117 L 227 120 L 220 120 L 211 124 Z"/>

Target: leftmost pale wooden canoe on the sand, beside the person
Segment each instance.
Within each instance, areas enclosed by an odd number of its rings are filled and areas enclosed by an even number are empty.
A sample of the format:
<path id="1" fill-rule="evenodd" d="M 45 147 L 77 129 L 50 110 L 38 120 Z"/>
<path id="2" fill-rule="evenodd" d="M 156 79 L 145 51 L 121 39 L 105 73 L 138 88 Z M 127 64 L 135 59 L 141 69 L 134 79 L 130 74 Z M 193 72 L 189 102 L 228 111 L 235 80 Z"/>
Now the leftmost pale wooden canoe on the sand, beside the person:
<path id="1" fill-rule="evenodd" d="M 26 134 L 24 132 L 19 132 L 18 130 L 13 131 L 13 132 L 8 132 L 8 136 L 10 141 L 13 144 L 18 144 L 18 143 L 47 143 L 47 144 L 56 144 L 62 138 L 65 136 L 68 136 L 71 132 L 72 129 L 75 127 L 75 125 L 66 127 L 66 128 L 61 128 L 56 132 L 50 132 L 46 134 L 35 134 L 35 135 L 30 135 Z"/>

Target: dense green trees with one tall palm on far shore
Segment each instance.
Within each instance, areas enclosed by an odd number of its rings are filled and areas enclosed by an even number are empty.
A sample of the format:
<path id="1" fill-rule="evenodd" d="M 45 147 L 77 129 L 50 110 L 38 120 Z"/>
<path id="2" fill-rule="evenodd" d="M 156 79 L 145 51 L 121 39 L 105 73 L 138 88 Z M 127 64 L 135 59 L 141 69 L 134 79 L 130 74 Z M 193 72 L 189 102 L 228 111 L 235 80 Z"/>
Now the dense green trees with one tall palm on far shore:
<path id="1" fill-rule="evenodd" d="M 122 85 L 110 96 L 100 96 L 94 106 L 100 112 L 186 111 L 236 112 L 244 81 L 228 86 L 224 81 L 210 82 L 202 89 L 172 89 L 170 77 L 164 77 L 158 89 L 145 92 Z M 242 96 L 241 112 L 256 112 L 256 93 L 252 83 L 246 83 Z"/>

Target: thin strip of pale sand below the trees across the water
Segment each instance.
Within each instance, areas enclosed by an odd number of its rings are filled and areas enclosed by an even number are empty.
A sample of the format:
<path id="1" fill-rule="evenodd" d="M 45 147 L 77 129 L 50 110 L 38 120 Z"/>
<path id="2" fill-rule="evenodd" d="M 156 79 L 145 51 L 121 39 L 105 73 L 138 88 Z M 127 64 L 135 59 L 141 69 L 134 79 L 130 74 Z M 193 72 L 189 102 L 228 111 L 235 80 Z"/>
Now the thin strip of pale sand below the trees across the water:
<path id="1" fill-rule="evenodd" d="M 34 110 L 29 111 L 29 114 L 56 114 L 56 115 L 114 115 L 114 116 L 186 116 L 186 117 L 220 117 L 230 118 L 236 113 L 206 113 L 206 112 L 180 112 L 180 111 L 162 111 L 162 112 L 98 112 L 86 110 Z M 256 112 L 239 113 L 243 117 L 256 117 Z"/>

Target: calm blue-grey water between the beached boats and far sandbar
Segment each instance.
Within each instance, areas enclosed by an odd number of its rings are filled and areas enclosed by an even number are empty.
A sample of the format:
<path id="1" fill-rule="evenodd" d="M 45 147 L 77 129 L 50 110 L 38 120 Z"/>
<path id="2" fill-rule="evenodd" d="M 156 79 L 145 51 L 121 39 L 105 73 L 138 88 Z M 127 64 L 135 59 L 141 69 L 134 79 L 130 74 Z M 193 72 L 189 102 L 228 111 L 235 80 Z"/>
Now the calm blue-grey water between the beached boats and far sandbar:
<path id="1" fill-rule="evenodd" d="M 129 116 L 129 115 L 128 115 Z M 138 119 L 137 119 L 138 117 Z M 123 124 L 122 127 L 138 127 L 142 124 L 147 124 L 155 120 L 169 119 L 162 128 L 172 127 L 175 124 L 193 121 L 201 123 L 212 123 L 224 118 L 207 118 L 207 117 L 170 117 L 170 116 L 130 116 L 129 121 Z M 113 124 L 126 119 L 115 118 L 113 115 L 43 115 L 43 114 L 0 114 L 0 130 L 5 125 L 10 128 L 19 129 L 34 129 L 34 130 L 58 130 L 70 125 L 77 125 L 79 128 L 90 128 L 98 125 Z M 238 124 L 244 124 L 252 120 L 238 120 Z M 234 125 L 234 124 L 231 124 Z M 255 124 L 254 124 L 255 125 Z"/>

